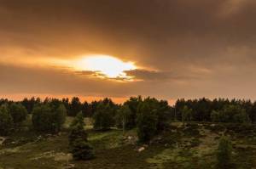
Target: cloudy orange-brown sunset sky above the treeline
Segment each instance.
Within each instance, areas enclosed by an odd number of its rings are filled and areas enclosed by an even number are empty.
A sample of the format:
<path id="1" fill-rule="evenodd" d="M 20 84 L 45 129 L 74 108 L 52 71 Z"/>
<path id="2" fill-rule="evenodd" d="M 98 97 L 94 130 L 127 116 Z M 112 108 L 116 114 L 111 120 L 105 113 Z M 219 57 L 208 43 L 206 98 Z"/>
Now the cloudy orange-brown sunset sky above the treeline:
<path id="1" fill-rule="evenodd" d="M 254 0 L 0 0 L 0 97 L 256 99 Z"/>

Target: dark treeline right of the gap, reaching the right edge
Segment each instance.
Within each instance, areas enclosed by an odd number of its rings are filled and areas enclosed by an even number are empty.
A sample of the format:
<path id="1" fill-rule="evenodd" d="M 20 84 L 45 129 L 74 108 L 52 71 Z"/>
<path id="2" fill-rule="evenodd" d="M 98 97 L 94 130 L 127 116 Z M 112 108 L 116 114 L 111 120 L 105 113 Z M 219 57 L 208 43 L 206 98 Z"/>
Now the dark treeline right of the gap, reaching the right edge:
<path id="1" fill-rule="evenodd" d="M 244 99 L 178 99 L 173 115 L 178 121 L 256 123 L 256 102 Z"/>

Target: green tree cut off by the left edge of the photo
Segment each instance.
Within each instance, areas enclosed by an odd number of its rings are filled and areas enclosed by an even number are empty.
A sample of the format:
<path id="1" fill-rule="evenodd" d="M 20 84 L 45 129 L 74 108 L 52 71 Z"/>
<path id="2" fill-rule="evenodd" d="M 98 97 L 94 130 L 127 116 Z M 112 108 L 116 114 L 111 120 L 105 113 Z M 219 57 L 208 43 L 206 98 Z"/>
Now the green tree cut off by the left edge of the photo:
<path id="1" fill-rule="evenodd" d="M 9 134 L 13 127 L 13 118 L 9 114 L 6 104 L 0 106 L 0 135 Z"/>

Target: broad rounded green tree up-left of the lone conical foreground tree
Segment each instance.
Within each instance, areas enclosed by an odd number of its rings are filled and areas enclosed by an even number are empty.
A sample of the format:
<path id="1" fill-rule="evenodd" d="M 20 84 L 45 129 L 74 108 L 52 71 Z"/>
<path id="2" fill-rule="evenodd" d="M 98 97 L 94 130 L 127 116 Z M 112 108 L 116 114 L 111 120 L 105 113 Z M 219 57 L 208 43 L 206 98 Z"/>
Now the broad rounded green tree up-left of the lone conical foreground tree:
<path id="1" fill-rule="evenodd" d="M 32 110 L 32 124 L 38 132 L 59 132 L 65 122 L 67 110 L 60 104 L 56 109 L 50 104 L 38 105 Z"/>

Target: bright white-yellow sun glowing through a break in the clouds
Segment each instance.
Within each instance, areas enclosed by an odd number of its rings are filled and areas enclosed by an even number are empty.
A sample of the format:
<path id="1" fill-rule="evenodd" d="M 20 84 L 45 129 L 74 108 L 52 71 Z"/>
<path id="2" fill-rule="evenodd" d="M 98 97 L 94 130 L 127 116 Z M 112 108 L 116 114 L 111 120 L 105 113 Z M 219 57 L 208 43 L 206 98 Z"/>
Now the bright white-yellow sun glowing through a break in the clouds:
<path id="1" fill-rule="evenodd" d="M 108 78 L 131 79 L 125 70 L 135 70 L 137 67 L 133 62 L 125 62 L 121 59 L 108 55 L 90 55 L 78 59 L 74 63 L 77 70 L 95 71 L 97 76 Z"/>

